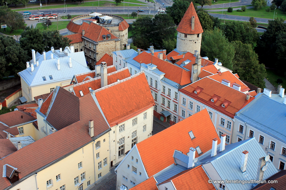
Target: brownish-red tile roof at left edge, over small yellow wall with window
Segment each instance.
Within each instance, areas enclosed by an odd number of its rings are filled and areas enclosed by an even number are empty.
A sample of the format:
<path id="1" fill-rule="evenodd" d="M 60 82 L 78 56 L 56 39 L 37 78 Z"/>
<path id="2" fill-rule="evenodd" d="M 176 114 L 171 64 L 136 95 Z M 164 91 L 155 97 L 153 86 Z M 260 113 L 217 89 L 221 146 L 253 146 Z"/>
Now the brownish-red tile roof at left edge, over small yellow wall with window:
<path id="1" fill-rule="evenodd" d="M 0 121 L 9 127 L 20 125 L 26 122 L 32 122 L 33 120 L 35 120 L 35 118 L 32 117 L 29 113 L 20 110 L 11 111 L 9 113 L 0 115 Z"/>

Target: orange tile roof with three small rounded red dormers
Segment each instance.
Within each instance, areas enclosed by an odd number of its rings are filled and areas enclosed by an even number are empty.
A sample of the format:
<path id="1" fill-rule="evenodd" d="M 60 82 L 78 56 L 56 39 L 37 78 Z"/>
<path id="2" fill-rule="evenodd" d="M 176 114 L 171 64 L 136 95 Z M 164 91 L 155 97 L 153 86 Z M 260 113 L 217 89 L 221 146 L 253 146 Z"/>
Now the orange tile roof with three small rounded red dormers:
<path id="1" fill-rule="evenodd" d="M 247 100 L 245 93 L 228 87 L 209 77 L 210 76 L 195 81 L 179 91 L 232 118 L 236 112 L 254 99 L 254 97 L 250 97 L 250 99 Z M 197 94 L 194 93 L 196 89 L 200 89 L 200 92 Z M 215 103 L 210 101 L 213 97 L 217 97 Z M 228 105 L 225 108 L 221 106 L 226 103 Z"/>

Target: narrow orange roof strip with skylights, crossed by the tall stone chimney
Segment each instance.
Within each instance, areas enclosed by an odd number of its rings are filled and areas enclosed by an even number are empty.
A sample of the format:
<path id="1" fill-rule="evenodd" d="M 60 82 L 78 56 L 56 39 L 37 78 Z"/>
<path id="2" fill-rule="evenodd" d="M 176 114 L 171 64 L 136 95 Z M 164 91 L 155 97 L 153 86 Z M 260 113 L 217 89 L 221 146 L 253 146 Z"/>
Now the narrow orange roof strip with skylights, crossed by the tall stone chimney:
<path id="1" fill-rule="evenodd" d="M 130 73 L 128 68 L 124 68 L 113 73 L 109 73 L 107 75 L 107 84 L 110 85 L 112 83 L 117 82 L 117 79 L 122 80 L 130 77 Z M 90 90 L 88 89 L 91 87 L 93 90 L 97 90 L 101 88 L 101 77 L 96 77 L 94 79 L 90 79 L 88 81 L 84 81 L 74 85 L 74 93 L 77 97 L 81 97 L 80 90 L 84 95 L 89 94 Z"/>

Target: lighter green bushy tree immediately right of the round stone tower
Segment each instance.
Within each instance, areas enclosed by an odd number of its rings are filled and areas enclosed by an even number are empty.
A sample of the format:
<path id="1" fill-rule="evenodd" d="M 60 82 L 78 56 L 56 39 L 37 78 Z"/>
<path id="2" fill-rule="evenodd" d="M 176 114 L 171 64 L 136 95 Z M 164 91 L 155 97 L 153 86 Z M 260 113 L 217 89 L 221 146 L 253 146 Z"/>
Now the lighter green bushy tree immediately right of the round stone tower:
<path id="1" fill-rule="evenodd" d="M 234 47 L 219 28 L 206 30 L 202 35 L 201 55 L 210 60 L 218 58 L 223 66 L 233 69 Z"/>

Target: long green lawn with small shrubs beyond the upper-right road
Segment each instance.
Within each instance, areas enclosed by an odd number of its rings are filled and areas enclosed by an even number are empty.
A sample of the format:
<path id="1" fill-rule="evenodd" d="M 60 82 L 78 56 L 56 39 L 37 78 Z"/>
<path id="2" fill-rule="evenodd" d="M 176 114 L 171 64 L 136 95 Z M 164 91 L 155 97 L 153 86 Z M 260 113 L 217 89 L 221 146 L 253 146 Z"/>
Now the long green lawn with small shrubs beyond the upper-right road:
<path id="1" fill-rule="evenodd" d="M 238 15 L 238 16 L 245 16 L 245 17 L 249 16 L 249 17 L 258 17 L 258 18 L 265 18 L 265 19 L 273 19 L 274 11 L 270 11 L 267 13 L 265 11 L 266 8 L 267 7 L 263 7 L 262 9 L 258 11 L 255 11 L 254 9 L 246 9 L 245 12 L 238 12 L 238 11 L 233 11 L 232 13 L 227 12 L 227 15 Z M 221 14 L 221 11 L 212 12 L 212 13 Z M 286 14 L 282 13 L 279 9 L 275 11 L 275 17 L 276 17 L 276 13 L 277 13 L 278 18 L 282 17 L 283 19 L 286 19 Z"/>

